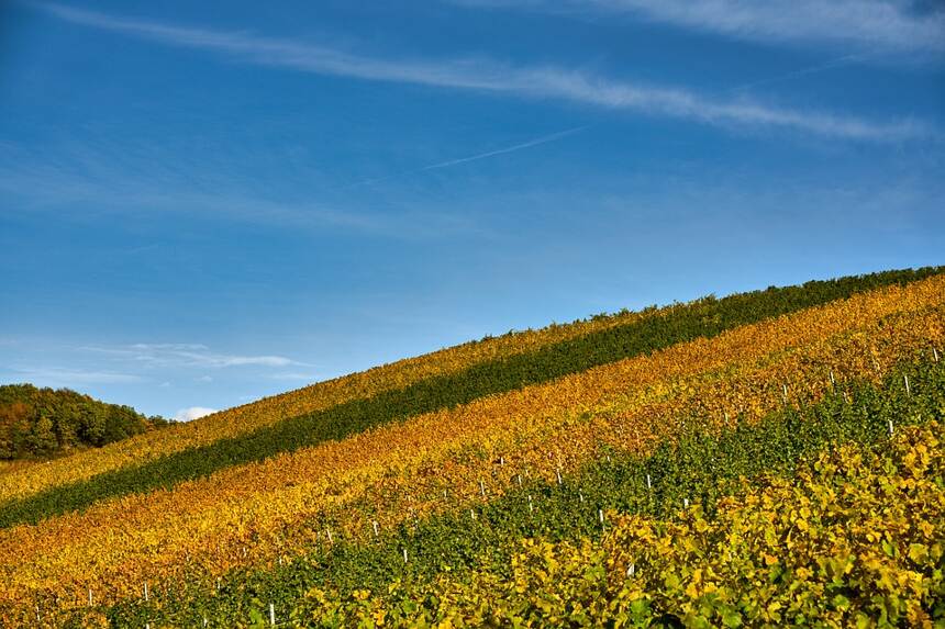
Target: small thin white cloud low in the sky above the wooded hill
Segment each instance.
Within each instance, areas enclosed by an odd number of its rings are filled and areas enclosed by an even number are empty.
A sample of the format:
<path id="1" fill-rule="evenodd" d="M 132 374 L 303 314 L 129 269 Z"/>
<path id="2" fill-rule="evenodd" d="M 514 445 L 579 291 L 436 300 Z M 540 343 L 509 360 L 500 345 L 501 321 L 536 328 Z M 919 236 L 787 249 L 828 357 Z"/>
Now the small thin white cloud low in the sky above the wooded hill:
<path id="1" fill-rule="evenodd" d="M 193 368 L 226 368 L 226 367 L 289 367 L 302 366 L 284 356 L 242 356 L 218 353 L 210 351 L 205 345 L 186 342 L 137 342 L 134 345 L 102 347 L 84 346 L 79 349 L 96 353 L 109 355 L 115 359 L 133 361 L 155 367 L 193 367 Z"/>

